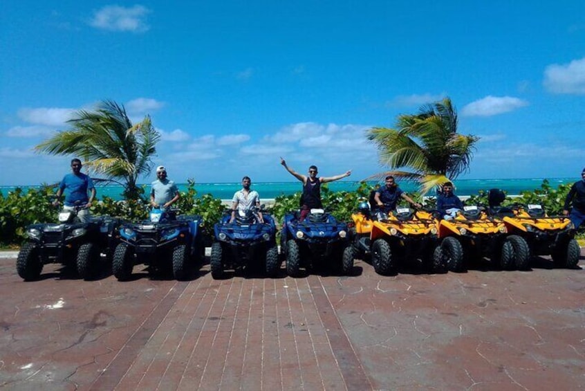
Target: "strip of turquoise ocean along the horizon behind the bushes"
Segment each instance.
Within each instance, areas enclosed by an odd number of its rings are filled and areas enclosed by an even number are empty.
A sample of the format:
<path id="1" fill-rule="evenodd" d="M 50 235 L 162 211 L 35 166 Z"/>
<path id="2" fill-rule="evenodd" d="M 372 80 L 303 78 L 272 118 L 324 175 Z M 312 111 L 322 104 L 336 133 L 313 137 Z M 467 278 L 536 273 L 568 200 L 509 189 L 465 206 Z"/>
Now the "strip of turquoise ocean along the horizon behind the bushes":
<path id="1" fill-rule="evenodd" d="M 523 190 L 535 190 L 541 187 L 544 179 L 461 179 L 455 182 L 456 194 L 460 196 L 469 196 L 478 194 L 480 190 L 490 190 L 492 188 L 499 188 L 508 194 L 520 194 Z M 553 178 L 548 179 L 553 188 L 558 185 L 573 183 L 578 178 Z M 369 182 L 375 185 L 378 182 Z M 379 182 L 382 183 L 382 182 Z M 414 192 L 418 189 L 418 183 L 410 181 L 401 181 L 398 183 L 400 188 L 405 192 Z M 146 186 L 146 192 L 149 192 L 150 185 Z M 360 186 L 360 182 L 352 181 L 337 181 L 328 183 L 328 187 L 332 191 L 353 191 Z M 8 192 L 14 191 L 16 188 L 21 188 L 26 191 L 28 188 L 39 188 L 39 186 L 0 186 L 0 192 L 7 195 Z M 187 190 L 187 183 L 178 184 L 179 190 Z M 198 196 L 203 194 L 212 194 L 214 198 L 218 199 L 232 199 L 234 192 L 241 189 L 241 183 L 196 183 L 195 190 Z M 275 199 L 281 194 L 294 194 L 301 190 L 301 183 L 295 182 L 266 182 L 266 183 L 252 183 L 252 190 L 256 190 L 260 194 L 261 199 Z M 115 200 L 122 199 L 122 187 L 120 185 L 97 185 L 97 198 L 101 199 L 104 196 L 111 197 Z M 432 194 L 429 194 L 432 195 Z"/>

